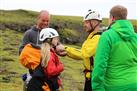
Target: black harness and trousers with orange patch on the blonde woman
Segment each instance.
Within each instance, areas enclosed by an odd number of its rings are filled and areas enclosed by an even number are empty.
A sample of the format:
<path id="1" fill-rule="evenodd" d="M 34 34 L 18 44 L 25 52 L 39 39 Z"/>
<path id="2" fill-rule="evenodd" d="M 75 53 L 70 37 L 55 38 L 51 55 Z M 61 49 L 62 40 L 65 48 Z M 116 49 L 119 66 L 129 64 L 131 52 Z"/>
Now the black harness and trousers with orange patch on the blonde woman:
<path id="1" fill-rule="evenodd" d="M 58 81 L 60 80 L 57 76 L 48 79 L 43 71 L 43 67 L 38 65 L 33 71 L 32 79 L 28 83 L 27 91 L 56 91 L 59 88 Z"/>

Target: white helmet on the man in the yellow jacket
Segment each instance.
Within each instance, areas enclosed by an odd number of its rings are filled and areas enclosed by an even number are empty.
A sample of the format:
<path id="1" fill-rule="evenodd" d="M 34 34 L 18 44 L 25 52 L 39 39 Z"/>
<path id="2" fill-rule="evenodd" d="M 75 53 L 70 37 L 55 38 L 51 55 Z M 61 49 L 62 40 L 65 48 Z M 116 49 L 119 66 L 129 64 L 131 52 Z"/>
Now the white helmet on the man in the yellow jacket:
<path id="1" fill-rule="evenodd" d="M 100 14 L 97 11 L 92 11 L 90 9 L 90 10 L 88 10 L 86 15 L 84 16 L 83 20 L 85 21 L 85 20 L 92 20 L 92 19 L 96 19 L 96 20 L 102 21 L 102 18 L 100 16 Z"/>

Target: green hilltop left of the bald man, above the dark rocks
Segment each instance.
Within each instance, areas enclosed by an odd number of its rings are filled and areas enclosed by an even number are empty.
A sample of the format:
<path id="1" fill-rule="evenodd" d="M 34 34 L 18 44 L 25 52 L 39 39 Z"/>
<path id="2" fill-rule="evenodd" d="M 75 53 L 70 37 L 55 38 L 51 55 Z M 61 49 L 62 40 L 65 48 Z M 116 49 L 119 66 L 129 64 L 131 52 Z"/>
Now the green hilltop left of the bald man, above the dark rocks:
<path id="1" fill-rule="evenodd" d="M 37 12 L 26 10 L 0 11 L 1 23 L 32 24 L 36 21 Z"/>

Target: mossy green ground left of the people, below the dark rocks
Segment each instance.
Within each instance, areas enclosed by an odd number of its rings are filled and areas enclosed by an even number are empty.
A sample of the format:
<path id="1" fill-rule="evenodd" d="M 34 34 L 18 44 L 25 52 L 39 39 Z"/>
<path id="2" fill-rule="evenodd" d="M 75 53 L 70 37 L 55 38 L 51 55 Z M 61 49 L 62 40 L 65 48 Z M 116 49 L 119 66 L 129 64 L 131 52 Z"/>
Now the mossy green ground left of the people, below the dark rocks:
<path id="1" fill-rule="evenodd" d="M 22 34 L 5 29 L 0 36 L 0 91 L 22 91 L 21 74 L 26 72 L 18 60 Z"/>

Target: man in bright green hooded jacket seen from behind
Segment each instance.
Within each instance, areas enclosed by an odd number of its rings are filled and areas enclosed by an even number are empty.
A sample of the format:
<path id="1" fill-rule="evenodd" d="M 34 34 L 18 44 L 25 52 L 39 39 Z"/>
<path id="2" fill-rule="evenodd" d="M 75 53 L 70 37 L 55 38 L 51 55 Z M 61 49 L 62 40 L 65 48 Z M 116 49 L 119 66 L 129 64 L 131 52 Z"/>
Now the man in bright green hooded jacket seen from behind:
<path id="1" fill-rule="evenodd" d="M 137 34 L 126 17 L 123 6 L 110 10 L 110 26 L 96 50 L 92 91 L 137 91 Z"/>

